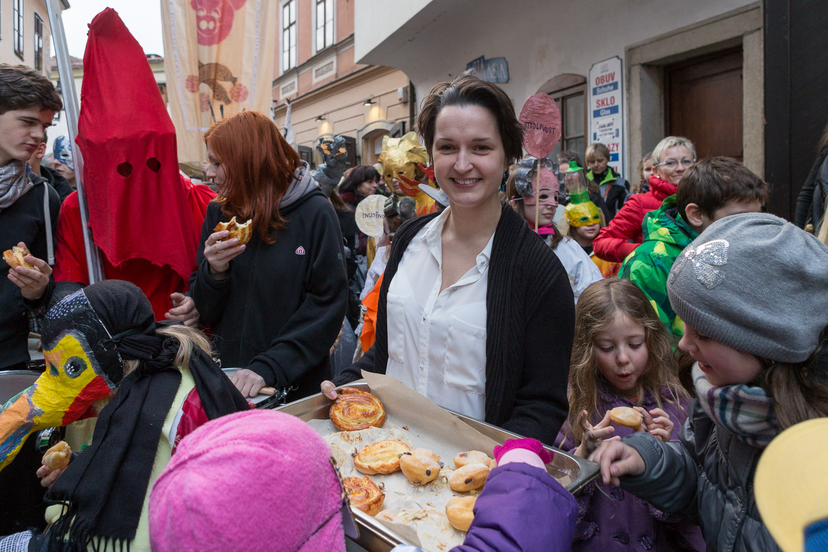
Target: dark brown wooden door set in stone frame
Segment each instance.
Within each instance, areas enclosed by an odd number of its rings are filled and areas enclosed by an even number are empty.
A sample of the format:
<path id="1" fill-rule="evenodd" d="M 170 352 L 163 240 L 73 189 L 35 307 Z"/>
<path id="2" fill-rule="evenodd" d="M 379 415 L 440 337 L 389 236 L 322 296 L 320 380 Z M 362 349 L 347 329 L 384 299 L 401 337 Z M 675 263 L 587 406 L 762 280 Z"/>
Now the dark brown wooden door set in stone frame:
<path id="1" fill-rule="evenodd" d="M 665 68 L 667 135 L 690 138 L 699 159 L 742 161 L 742 50 Z"/>

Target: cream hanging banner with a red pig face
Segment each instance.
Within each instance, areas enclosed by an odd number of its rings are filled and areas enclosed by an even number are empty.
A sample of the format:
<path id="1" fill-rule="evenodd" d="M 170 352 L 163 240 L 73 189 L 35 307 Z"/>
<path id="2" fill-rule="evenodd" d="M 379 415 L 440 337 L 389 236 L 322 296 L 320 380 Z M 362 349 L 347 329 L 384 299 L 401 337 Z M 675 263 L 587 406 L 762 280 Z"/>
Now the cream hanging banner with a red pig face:
<path id="1" fill-rule="evenodd" d="M 271 108 L 275 2 L 161 0 L 164 70 L 181 162 L 206 160 L 214 121 Z"/>

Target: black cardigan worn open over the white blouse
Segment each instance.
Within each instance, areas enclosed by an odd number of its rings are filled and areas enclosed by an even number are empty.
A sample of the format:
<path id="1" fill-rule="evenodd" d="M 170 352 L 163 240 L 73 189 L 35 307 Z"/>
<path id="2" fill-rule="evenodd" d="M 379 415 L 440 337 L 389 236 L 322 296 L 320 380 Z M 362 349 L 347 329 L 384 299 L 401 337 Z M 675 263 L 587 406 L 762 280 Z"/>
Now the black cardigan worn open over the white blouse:
<path id="1" fill-rule="evenodd" d="M 379 290 L 376 341 L 334 382 L 360 370 L 384 374 L 388 365 L 388 286 L 408 242 L 438 213 L 397 231 Z M 569 278 L 550 247 L 507 204 L 494 233 L 486 290 L 486 421 L 552 444 L 569 410 L 575 300 Z"/>

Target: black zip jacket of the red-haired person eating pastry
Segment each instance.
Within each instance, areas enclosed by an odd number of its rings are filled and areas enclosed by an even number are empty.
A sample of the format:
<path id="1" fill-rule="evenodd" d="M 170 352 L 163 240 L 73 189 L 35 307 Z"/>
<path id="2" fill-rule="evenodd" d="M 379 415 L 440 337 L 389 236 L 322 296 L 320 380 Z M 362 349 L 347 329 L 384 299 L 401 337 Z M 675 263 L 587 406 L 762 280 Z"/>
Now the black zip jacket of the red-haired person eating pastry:
<path id="1" fill-rule="evenodd" d="M 205 241 L 223 220 L 219 204 L 207 207 L 190 276 L 200 324 L 210 324 L 223 367 L 246 367 L 268 386 L 296 386 L 288 401 L 319 392 L 330 379 L 330 346 L 345 315 L 342 233 L 334 208 L 318 189 L 280 209 L 286 219 L 272 245 L 258 233 L 230 262 L 228 276 L 209 275 Z"/>

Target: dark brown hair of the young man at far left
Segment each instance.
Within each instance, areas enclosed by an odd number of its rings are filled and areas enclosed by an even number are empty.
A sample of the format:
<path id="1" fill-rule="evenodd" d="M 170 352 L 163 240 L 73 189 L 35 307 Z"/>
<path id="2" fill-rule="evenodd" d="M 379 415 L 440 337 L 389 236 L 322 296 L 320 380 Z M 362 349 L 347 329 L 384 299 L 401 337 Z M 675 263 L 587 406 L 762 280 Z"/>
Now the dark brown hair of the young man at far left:
<path id="1" fill-rule="evenodd" d="M 45 74 L 28 65 L 0 64 L 0 115 L 26 108 L 60 111 L 63 102 Z"/>

